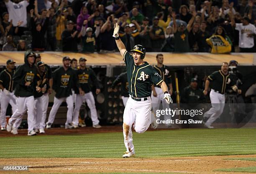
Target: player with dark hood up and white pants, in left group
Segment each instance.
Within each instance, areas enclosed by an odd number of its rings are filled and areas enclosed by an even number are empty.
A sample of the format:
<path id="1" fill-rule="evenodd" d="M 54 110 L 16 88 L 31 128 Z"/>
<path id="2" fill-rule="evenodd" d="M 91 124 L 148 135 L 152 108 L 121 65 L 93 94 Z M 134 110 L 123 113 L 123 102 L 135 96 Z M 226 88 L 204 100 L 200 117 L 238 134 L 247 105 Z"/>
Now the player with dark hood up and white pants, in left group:
<path id="1" fill-rule="evenodd" d="M 28 136 L 36 135 L 34 128 L 34 92 L 41 91 L 41 88 L 36 86 L 36 66 L 35 54 L 26 51 L 24 55 L 25 64 L 20 65 L 14 73 L 13 82 L 16 84 L 15 96 L 17 109 L 11 116 L 6 126 L 8 132 L 12 131 L 18 133 L 18 127 L 21 123 L 23 114 L 28 110 Z M 13 124 L 17 121 L 19 124 Z"/>

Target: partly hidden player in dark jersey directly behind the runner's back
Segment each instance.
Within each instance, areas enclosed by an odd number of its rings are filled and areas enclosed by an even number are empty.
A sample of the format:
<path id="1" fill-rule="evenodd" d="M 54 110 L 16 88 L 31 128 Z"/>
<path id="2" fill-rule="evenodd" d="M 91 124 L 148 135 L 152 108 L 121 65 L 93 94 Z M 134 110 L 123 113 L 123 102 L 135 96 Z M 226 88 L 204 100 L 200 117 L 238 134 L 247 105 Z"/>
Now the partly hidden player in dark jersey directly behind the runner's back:
<path id="1" fill-rule="evenodd" d="M 129 98 L 129 92 L 128 92 L 128 80 L 127 80 L 127 72 L 121 73 L 113 82 L 111 85 L 111 88 L 114 89 L 115 86 L 121 83 L 121 95 L 123 100 L 123 105 L 126 106 L 127 100 Z"/>

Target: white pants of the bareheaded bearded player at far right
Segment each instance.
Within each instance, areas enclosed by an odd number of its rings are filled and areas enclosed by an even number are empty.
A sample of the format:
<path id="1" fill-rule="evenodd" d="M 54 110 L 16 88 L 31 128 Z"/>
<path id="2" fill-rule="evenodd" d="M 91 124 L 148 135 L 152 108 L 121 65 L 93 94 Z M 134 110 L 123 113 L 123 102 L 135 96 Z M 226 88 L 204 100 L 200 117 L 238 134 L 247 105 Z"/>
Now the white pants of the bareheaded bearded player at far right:
<path id="1" fill-rule="evenodd" d="M 220 115 L 223 113 L 223 109 L 225 106 L 225 95 L 215 92 L 211 90 L 210 92 L 210 100 L 212 107 L 208 110 L 204 117 L 209 118 L 205 125 L 211 125 Z"/>

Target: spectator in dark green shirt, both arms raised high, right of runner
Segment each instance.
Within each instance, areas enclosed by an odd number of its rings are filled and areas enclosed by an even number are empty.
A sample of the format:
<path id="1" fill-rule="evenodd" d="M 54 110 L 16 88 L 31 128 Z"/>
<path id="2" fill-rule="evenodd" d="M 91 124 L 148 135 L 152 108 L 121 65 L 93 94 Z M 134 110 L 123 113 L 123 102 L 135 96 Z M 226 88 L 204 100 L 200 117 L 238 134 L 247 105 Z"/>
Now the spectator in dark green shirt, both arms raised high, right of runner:
<path id="1" fill-rule="evenodd" d="M 172 13 L 173 18 L 173 30 L 174 30 L 174 52 L 189 52 L 189 41 L 188 36 L 191 30 L 192 23 L 195 19 L 196 12 L 193 13 L 192 18 L 189 20 L 187 24 L 187 28 L 183 23 L 179 23 L 177 26 L 176 22 L 176 14 Z"/>

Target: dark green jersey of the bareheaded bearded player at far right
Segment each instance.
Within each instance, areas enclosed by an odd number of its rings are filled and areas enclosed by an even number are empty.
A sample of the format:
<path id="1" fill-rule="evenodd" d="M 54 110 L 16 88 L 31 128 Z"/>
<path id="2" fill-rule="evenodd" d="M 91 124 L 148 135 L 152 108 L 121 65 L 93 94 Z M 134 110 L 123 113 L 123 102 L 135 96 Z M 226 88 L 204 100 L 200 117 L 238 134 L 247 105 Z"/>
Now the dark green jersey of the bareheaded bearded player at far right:
<path id="1" fill-rule="evenodd" d="M 225 93 L 228 85 L 233 87 L 236 83 L 230 74 L 225 75 L 221 72 L 221 70 L 213 72 L 208 76 L 207 79 L 210 81 L 210 87 L 221 94 Z"/>

